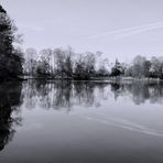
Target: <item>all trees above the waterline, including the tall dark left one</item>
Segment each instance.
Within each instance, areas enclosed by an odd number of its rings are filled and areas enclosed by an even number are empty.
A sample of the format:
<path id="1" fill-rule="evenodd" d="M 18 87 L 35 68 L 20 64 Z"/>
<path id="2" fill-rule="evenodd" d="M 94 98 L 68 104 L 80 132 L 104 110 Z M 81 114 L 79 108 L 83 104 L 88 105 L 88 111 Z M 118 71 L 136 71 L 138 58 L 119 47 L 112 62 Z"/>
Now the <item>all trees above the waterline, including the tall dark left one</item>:
<path id="1" fill-rule="evenodd" d="M 34 48 L 22 52 L 15 47 L 20 41 L 17 28 L 7 11 L 0 6 L 0 80 L 28 75 L 41 78 L 93 79 L 104 77 L 132 77 L 163 79 L 163 57 L 151 59 L 138 55 L 132 64 L 112 64 L 102 58 L 102 53 L 75 53 L 72 47 Z M 24 59 L 25 58 L 25 59 Z"/>

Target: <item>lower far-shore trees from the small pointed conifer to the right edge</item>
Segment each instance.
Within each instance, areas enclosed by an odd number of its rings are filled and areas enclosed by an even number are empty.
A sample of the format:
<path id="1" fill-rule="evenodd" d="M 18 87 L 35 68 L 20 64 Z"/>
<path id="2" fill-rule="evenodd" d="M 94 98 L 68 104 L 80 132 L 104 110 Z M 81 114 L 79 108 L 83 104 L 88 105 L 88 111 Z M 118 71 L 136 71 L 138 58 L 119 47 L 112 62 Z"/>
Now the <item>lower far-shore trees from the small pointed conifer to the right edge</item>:
<path id="1" fill-rule="evenodd" d="M 131 64 L 116 61 L 110 76 L 163 79 L 163 57 L 152 56 L 151 58 L 146 58 L 145 56 L 138 55 Z"/>

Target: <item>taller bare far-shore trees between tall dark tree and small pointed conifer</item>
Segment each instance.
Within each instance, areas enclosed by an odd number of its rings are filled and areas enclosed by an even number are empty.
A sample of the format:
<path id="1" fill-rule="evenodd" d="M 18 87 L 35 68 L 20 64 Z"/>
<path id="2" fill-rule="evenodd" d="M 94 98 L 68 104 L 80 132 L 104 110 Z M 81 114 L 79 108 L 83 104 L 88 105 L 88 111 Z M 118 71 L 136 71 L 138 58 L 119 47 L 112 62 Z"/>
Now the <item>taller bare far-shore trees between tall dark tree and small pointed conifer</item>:
<path id="1" fill-rule="evenodd" d="M 101 53 L 75 53 L 72 47 L 25 52 L 24 74 L 36 77 L 90 79 L 109 75 L 108 59 Z"/>

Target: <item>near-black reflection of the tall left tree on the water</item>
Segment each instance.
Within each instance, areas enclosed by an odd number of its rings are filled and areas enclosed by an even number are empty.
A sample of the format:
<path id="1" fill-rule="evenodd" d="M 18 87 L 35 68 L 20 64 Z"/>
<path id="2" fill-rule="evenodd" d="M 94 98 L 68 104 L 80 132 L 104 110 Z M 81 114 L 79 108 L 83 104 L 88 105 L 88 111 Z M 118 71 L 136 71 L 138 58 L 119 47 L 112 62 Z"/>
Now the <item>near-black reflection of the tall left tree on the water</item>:
<path id="1" fill-rule="evenodd" d="M 0 85 L 0 151 L 12 140 L 15 132 L 13 126 L 21 123 L 19 116 L 12 117 L 13 112 L 19 115 L 20 111 L 21 89 L 21 84 Z"/>

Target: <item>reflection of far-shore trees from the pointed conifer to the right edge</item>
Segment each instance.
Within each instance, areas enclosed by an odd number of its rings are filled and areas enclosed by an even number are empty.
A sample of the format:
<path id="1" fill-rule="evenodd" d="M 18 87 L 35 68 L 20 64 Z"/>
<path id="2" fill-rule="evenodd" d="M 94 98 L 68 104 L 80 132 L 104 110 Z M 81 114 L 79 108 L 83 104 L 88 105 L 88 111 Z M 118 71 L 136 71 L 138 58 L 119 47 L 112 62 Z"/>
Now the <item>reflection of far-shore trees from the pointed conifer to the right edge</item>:
<path id="1" fill-rule="evenodd" d="M 163 104 L 163 84 L 111 84 L 111 91 L 115 94 L 115 99 L 121 96 L 130 97 L 135 105 L 145 104 Z"/>

